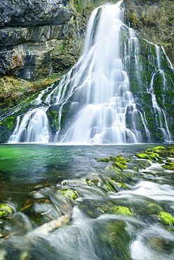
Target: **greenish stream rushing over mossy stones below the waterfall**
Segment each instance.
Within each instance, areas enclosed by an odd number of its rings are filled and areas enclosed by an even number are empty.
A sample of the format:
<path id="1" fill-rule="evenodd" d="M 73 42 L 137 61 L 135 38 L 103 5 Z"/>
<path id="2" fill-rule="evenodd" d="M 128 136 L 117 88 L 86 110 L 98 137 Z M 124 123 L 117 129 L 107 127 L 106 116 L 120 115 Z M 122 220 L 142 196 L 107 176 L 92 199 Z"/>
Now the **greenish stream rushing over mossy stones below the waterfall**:
<path id="1" fill-rule="evenodd" d="M 0 145 L 0 259 L 174 259 L 174 171 L 135 157 L 156 146 Z"/>

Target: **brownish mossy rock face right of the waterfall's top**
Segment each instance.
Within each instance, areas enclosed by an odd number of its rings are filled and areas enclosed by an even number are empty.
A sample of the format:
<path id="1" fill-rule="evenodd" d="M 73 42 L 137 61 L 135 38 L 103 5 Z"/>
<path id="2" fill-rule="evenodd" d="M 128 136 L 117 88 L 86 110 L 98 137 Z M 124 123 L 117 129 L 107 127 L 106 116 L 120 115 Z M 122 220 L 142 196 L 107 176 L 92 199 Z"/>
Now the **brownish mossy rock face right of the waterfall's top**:
<path id="1" fill-rule="evenodd" d="M 124 0 L 126 22 L 153 44 L 164 46 L 174 64 L 174 1 Z"/>

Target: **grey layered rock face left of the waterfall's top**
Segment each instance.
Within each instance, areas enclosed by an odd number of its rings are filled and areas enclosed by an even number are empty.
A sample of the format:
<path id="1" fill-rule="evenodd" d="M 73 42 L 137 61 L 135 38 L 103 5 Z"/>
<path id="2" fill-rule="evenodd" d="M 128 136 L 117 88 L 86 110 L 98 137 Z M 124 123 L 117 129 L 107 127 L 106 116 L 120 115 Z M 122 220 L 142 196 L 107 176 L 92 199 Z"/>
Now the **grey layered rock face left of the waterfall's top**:
<path id="1" fill-rule="evenodd" d="M 34 81 L 67 72 L 81 54 L 77 27 L 67 0 L 2 0 L 0 75 Z"/>

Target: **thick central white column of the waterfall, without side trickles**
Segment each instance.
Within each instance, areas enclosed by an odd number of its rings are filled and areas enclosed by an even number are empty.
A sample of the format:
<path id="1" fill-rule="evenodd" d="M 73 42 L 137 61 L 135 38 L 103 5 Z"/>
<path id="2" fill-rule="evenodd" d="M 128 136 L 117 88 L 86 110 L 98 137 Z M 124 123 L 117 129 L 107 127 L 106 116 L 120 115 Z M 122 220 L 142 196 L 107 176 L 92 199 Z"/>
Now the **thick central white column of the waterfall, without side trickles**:
<path id="1" fill-rule="evenodd" d="M 85 96 L 84 106 L 60 142 L 140 141 L 140 133 L 136 129 L 126 128 L 126 107 L 134 106 L 135 102 L 129 90 L 128 74 L 123 68 L 120 57 L 119 33 L 123 26 L 123 11 L 120 5 L 121 1 L 115 6 L 96 9 L 91 16 L 81 63 L 81 70 L 87 69 L 86 77 L 77 89 Z M 98 10 L 101 12 L 98 30 L 92 38 L 95 14 Z M 75 75 L 75 78 L 76 82 L 80 82 L 81 73 Z"/>

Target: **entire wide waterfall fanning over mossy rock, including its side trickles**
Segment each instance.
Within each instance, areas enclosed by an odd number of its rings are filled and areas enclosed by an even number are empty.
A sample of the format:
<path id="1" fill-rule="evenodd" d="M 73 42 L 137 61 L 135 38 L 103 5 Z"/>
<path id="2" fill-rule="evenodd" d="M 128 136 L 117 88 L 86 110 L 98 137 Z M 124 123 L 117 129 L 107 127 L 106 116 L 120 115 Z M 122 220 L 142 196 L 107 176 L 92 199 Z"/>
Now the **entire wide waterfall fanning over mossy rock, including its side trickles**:
<path id="1" fill-rule="evenodd" d="M 49 87 L 47 96 L 47 90 L 39 94 L 33 102 L 34 109 L 27 112 L 20 124 L 18 122 L 9 141 L 144 143 L 172 140 L 165 110 L 156 101 L 154 78 L 160 73 L 162 84 L 166 84 L 165 67 L 173 68 L 166 56 L 163 59 L 167 65 L 161 66 L 161 47 L 156 48 L 140 38 L 123 23 L 121 4 L 119 1 L 93 11 L 83 56 L 59 84 L 54 84 L 53 89 Z M 142 53 L 142 49 L 148 53 Z M 144 92 L 152 100 L 149 110 L 140 96 Z M 37 115 L 41 115 L 41 119 Z M 147 117 L 153 117 L 154 121 L 148 122 Z M 37 119 L 40 121 L 36 122 Z M 156 129 L 161 139 L 156 136 Z"/>

